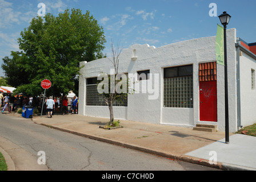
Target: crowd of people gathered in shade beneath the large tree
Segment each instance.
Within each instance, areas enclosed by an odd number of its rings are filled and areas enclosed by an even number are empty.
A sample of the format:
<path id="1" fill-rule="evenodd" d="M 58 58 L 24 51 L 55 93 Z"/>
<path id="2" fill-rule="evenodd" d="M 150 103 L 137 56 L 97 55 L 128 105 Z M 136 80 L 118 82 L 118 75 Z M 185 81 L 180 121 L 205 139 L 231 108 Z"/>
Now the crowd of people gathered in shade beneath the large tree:
<path id="1" fill-rule="evenodd" d="M 44 103 L 43 103 L 44 102 Z M 78 111 L 78 99 L 74 96 L 74 98 L 71 98 L 69 101 L 67 96 L 64 96 L 62 98 L 55 97 L 46 97 L 45 101 L 43 101 L 42 97 L 27 97 L 22 95 L 16 95 L 14 94 L 3 94 L 0 93 L 0 109 L 2 107 L 6 106 L 5 110 L 9 111 L 15 111 L 18 108 L 23 108 L 23 106 L 27 107 L 33 107 L 34 109 L 38 109 L 38 111 L 42 111 L 42 105 L 43 105 L 43 113 L 48 114 L 48 117 L 51 118 L 54 113 L 57 111 L 62 112 L 63 115 L 65 114 L 77 114 Z M 70 110 L 69 110 L 70 105 Z"/>

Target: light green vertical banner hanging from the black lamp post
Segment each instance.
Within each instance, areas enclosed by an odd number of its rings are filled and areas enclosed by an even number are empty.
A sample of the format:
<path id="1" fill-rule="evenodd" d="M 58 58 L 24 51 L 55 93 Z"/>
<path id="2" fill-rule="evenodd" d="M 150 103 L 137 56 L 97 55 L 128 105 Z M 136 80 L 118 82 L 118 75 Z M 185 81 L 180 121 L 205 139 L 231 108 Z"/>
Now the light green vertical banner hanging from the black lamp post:
<path id="1" fill-rule="evenodd" d="M 216 35 L 216 59 L 217 64 L 224 64 L 224 28 L 218 24 Z"/>

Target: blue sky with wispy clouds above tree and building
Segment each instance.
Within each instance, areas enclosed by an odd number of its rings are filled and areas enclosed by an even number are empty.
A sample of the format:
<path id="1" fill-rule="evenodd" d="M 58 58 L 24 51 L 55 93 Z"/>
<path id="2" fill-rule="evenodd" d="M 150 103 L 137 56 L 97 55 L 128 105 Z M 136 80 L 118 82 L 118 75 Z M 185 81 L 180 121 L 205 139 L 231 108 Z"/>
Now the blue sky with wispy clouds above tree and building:
<path id="1" fill-rule="evenodd" d="M 107 55 L 111 39 L 129 48 L 215 36 L 217 23 L 221 23 L 209 15 L 210 3 L 217 5 L 217 15 L 227 11 L 232 16 L 227 28 L 237 28 L 237 36 L 247 43 L 256 42 L 255 0 L 0 0 L 0 65 L 10 51 L 19 51 L 17 38 L 37 16 L 38 3 L 45 3 L 46 13 L 55 16 L 67 8 L 89 10 L 105 31 L 103 53 Z M 0 76 L 4 76 L 2 68 Z"/>

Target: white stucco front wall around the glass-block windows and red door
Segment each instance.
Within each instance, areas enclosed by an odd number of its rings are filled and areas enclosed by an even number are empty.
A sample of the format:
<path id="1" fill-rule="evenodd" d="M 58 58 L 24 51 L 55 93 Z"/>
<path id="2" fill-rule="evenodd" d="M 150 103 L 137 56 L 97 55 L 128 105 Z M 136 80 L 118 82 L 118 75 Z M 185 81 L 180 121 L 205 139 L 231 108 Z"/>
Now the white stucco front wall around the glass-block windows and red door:
<path id="1" fill-rule="evenodd" d="M 230 132 L 237 129 L 237 99 L 236 99 L 236 31 L 227 30 L 228 72 L 229 72 L 229 111 Z M 134 61 L 134 49 L 137 59 Z M 119 57 L 119 73 L 137 73 L 150 69 L 150 73 L 158 74 L 158 78 L 150 77 L 158 83 L 154 93 L 134 93 L 128 97 L 128 106 L 125 108 L 114 107 L 114 118 L 128 119 L 148 123 L 178 125 L 192 127 L 199 121 L 199 81 L 198 63 L 216 60 L 215 58 L 215 36 L 186 40 L 163 47 L 135 44 L 124 49 Z M 164 108 L 163 107 L 163 68 L 180 65 L 193 64 L 194 85 L 194 108 Z M 79 77 L 79 114 L 97 117 L 109 117 L 108 107 L 86 106 L 86 78 L 97 77 L 99 73 L 110 73 L 113 65 L 109 59 L 94 60 L 89 63 L 81 63 L 81 75 Z M 137 81 L 142 84 L 147 81 Z M 217 65 L 217 87 L 218 87 L 218 122 L 203 122 L 218 126 L 218 130 L 225 131 L 225 95 L 224 95 L 224 67 Z M 147 88 L 143 88 L 144 90 Z M 158 92 L 156 92 L 158 91 Z M 159 97 L 149 100 L 149 96 Z M 156 95 L 154 95 L 156 94 Z"/>

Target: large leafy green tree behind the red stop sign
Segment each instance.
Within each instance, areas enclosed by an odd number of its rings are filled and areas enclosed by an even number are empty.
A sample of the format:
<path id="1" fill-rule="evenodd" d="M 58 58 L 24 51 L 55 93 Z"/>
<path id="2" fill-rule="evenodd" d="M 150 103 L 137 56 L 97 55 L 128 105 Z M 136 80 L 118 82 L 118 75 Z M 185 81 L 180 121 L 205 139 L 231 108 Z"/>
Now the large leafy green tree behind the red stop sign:
<path id="1" fill-rule="evenodd" d="M 105 48 L 103 28 L 89 11 L 82 14 L 79 9 L 65 10 L 57 17 L 46 14 L 37 16 L 30 26 L 21 32 L 18 39 L 21 52 L 11 52 L 10 59 L 5 57 L 2 68 L 8 77 L 8 83 L 17 86 L 16 93 L 36 96 L 42 93 L 40 83 L 49 79 L 52 86 L 48 94 L 60 96 L 74 90 L 78 81 L 79 63 L 103 57 Z M 20 84 L 14 83 L 11 71 L 17 70 Z M 22 80 L 24 81 L 20 81 Z"/>

